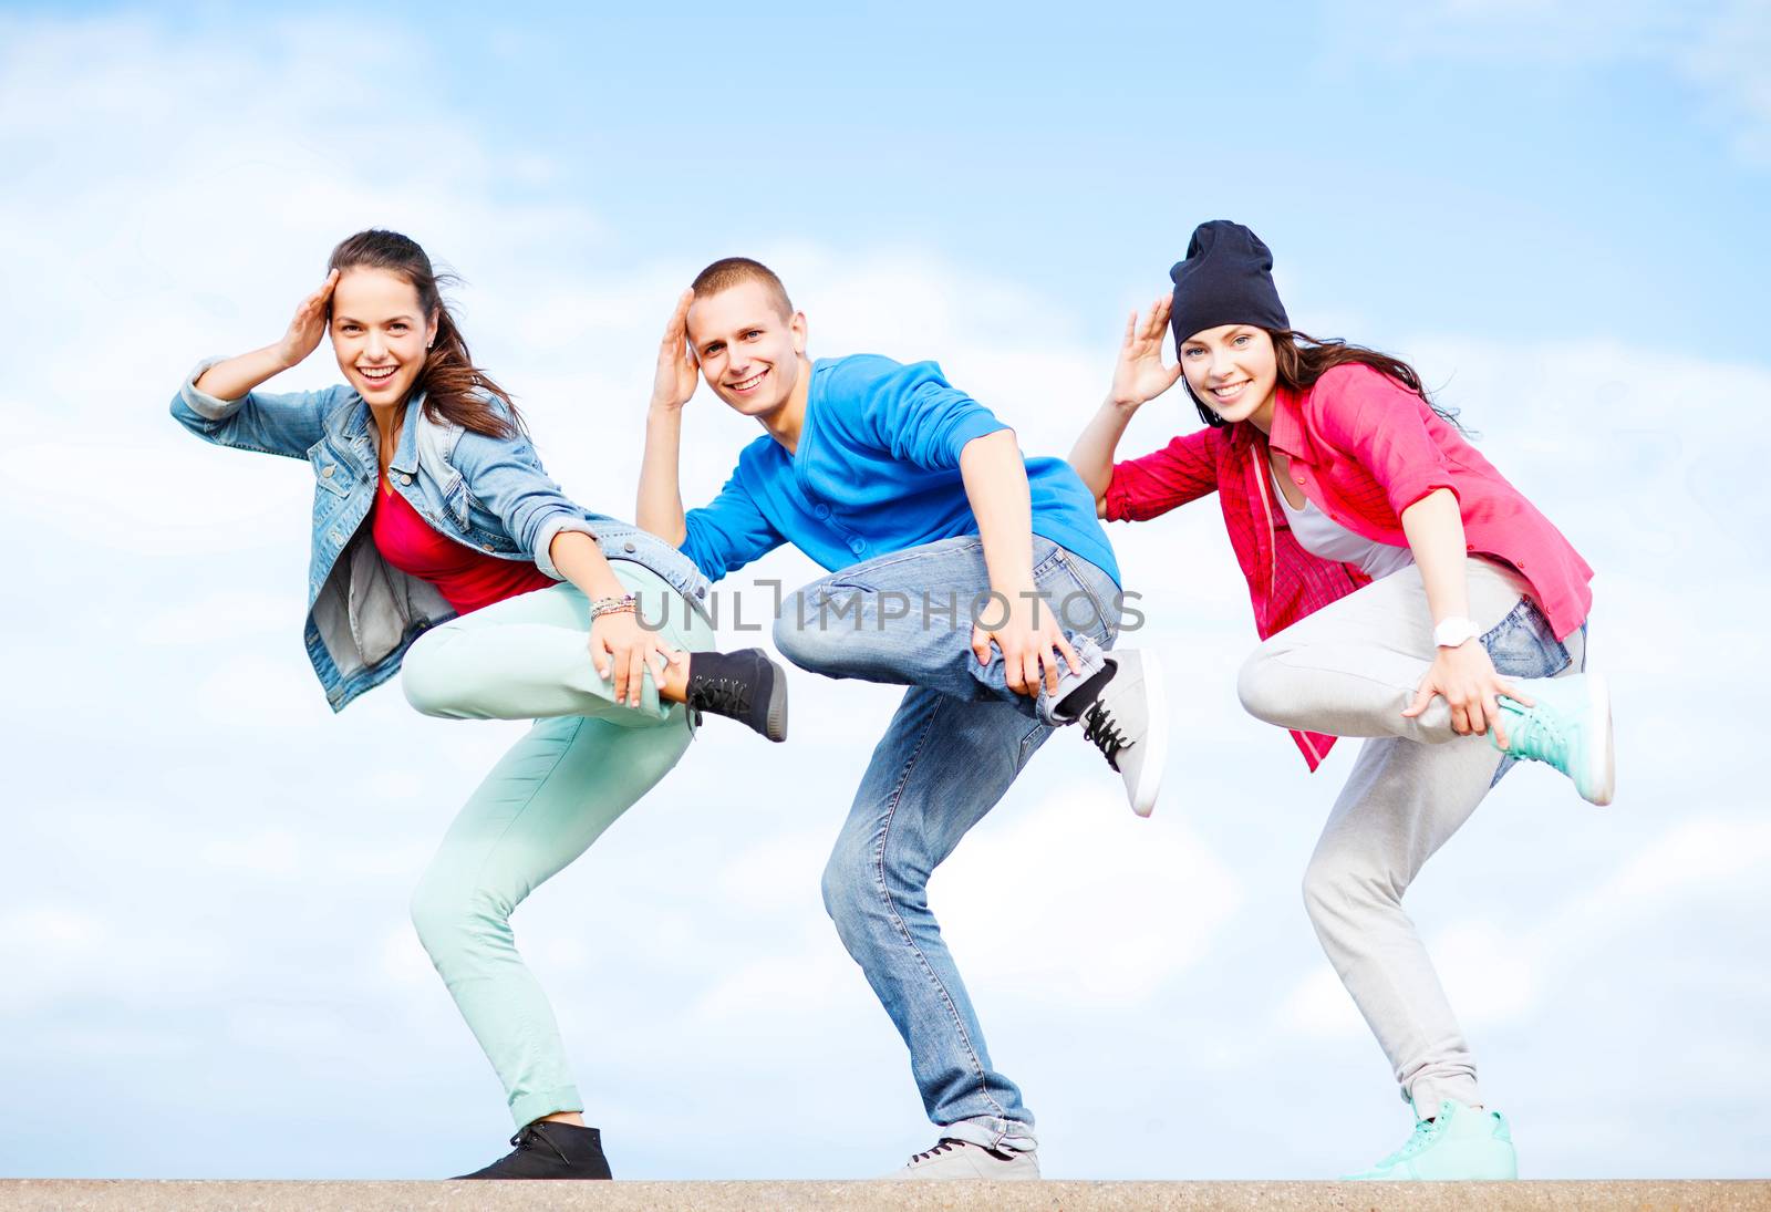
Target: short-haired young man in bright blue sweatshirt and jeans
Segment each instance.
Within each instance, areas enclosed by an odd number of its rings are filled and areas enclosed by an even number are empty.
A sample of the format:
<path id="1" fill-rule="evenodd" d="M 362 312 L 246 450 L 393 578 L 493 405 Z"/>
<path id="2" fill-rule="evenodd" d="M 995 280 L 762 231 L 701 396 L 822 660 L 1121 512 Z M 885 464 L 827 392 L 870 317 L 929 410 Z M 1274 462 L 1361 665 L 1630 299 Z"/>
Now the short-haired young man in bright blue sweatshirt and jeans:
<path id="1" fill-rule="evenodd" d="M 677 464 L 698 367 L 765 432 L 719 496 L 685 514 Z M 1015 432 L 932 361 L 813 363 L 781 280 L 733 257 L 701 271 L 664 333 L 638 521 L 710 579 L 792 542 L 832 576 L 783 601 L 781 654 L 827 677 L 909 686 L 824 900 L 940 1129 L 901 1175 L 1038 1178 L 1032 1115 L 990 1063 L 926 884 L 1057 726 L 1082 723 L 1133 810 L 1155 806 L 1158 670 L 1103 652 L 1125 599 L 1093 494 L 1066 462 L 1024 459 Z"/>

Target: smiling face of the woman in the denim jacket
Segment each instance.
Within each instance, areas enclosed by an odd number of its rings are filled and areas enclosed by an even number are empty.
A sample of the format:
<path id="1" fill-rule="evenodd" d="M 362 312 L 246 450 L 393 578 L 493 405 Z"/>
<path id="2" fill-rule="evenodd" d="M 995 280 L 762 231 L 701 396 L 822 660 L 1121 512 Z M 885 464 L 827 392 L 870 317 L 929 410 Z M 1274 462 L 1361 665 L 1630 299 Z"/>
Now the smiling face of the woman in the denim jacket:
<path id="1" fill-rule="evenodd" d="M 418 289 L 390 269 L 356 268 L 338 276 L 331 299 L 331 338 L 338 369 L 370 406 L 406 399 L 436 340 Z"/>

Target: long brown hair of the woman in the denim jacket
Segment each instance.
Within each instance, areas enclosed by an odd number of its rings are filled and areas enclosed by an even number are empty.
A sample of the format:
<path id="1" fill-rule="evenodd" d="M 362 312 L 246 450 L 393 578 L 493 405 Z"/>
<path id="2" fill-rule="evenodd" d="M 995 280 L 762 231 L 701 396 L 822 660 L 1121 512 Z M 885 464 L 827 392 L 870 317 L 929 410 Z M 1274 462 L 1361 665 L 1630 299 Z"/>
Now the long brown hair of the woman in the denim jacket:
<path id="1" fill-rule="evenodd" d="M 473 365 L 468 342 L 455 326 L 455 315 L 443 301 L 443 287 L 457 285 L 460 278 L 437 273 L 418 241 L 398 232 L 367 230 L 340 241 L 333 248 L 328 269 L 386 269 L 413 284 L 425 319 L 437 322 L 436 340 L 425 353 L 425 365 L 413 381 L 414 392 L 423 392 L 425 415 L 487 438 L 515 438 L 522 432 L 522 416 L 510 393 L 498 386 L 485 370 Z M 491 399 L 487 399 L 491 397 Z M 499 409 L 492 400 L 501 400 Z"/>

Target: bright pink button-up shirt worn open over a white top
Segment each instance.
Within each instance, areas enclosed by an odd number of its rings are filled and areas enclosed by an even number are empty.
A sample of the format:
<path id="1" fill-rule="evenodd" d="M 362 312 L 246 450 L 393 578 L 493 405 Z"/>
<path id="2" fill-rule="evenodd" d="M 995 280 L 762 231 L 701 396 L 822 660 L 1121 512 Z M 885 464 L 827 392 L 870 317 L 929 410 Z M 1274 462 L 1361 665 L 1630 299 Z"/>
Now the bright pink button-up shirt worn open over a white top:
<path id="1" fill-rule="evenodd" d="M 1532 587 L 1558 638 L 1592 608 L 1592 569 L 1550 519 L 1426 400 L 1387 374 L 1341 365 L 1309 392 L 1280 390 L 1273 432 L 1249 423 L 1183 434 L 1162 450 L 1114 464 L 1109 521 L 1144 521 L 1217 491 L 1224 526 L 1254 601 L 1263 640 L 1369 583 L 1351 563 L 1305 551 L 1273 501 L 1268 441 L 1291 457 L 1303 496 L 1348 530 L 1408 546 L 1401 514 L 1450 489 L 1468 549 L 1502 560 Z M 1293 732 L 1314 771 L 1334 737 Z"/>

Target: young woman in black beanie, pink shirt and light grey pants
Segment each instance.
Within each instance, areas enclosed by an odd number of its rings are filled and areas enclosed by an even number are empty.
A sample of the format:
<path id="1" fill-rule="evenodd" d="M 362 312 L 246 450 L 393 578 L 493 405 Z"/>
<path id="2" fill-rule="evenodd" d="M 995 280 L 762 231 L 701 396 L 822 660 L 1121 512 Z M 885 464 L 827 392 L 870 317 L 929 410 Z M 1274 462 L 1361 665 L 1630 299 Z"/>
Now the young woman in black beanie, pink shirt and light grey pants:
<path id="1" fill-rule="evenodd" d="M 1311 769 L 1334 737 L 1365 737 L 1303 900 L 1415 1130 L 1351 1177 L 1512 1178 L 1505 1118 L 1482 1104 L 1401 898 L 1514 758 L 1610 803 L 1610 698 L 1582 672 L 1592 571 L 1411 367 L 1295 331 L 1272 264 L 1249 229 L 1203 223 L 1172 296 L 1126 324 L 1112 393 L 1070 462 L 1107 519 L 1217 491 L 1263 638 L 1243 705 L 1289 728 Z M 1116 464 L 1137 408 L 1183 377 L 1206 429 Z"/>

